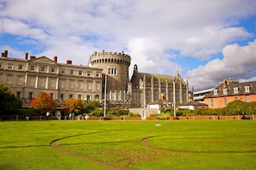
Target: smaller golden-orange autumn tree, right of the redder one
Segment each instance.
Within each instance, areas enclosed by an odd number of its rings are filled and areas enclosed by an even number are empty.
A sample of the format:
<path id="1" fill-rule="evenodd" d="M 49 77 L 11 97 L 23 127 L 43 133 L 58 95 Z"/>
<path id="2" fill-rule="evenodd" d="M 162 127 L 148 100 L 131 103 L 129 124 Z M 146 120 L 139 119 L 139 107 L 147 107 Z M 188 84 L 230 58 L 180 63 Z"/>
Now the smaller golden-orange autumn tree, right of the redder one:
<path id="1" fill-rule="evenodd" d="M 77 112 L 80 113 L 85 106 L 84 100 L 78 99 L 68 99 L 64 100 L 63 107 L 68 110 L 68 112 Z"/>

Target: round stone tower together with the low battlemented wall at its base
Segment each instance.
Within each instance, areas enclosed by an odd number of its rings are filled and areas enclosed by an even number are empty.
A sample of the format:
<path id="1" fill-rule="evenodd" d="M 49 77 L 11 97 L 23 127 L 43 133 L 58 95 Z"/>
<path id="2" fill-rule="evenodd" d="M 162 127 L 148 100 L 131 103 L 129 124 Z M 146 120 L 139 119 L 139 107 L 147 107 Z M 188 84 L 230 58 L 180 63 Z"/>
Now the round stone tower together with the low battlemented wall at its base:
<path id="1" fill-rule="evenodd" d="M 128 68 L 131 57 L 123 52 L 94 52 L 90 57 L 92 68 L 103 69 L 103 98 L 106 84 L 107 107 L 131 107 L 128 93 Z"/>

